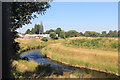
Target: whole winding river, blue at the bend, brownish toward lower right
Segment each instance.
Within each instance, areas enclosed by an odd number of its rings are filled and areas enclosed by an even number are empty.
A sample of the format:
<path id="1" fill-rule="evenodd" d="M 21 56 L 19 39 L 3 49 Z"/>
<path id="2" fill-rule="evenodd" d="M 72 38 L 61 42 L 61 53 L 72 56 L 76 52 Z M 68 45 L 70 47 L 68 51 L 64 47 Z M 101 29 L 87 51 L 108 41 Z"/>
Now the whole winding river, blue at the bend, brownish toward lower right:
<path id="1" fill-rule="evenodd" d="M 27 57 L 29 58 L 29 61 L 35 61 L 37 63 L 41 63 L 41 64 L 48 64 L 51 67 L 57 69 L 57 70 L 61 70 L 62 72 L 69 72 L 71 74 L 73 73 L 80 73 L 83 76 L 88 76 L 90 75 L 92 78 L 118 78 L 116 75 L 114 74 L 108 74 L 108 73 L 103 73 L 103 72 L 98 72 L 95 70 L 88 70 L 85 68 L 78 68 L 78 67 L 72 67 L 72 66 L 68 66 L 65 64 L 61 64 L 59 62 L 50 60 L 48 58 L 45 58 L 40 50 L 34 50 L 34 51 L 28 51 L 28 52 L 24 52 L 20 55 L 21 58 L 23 57 Z"/>

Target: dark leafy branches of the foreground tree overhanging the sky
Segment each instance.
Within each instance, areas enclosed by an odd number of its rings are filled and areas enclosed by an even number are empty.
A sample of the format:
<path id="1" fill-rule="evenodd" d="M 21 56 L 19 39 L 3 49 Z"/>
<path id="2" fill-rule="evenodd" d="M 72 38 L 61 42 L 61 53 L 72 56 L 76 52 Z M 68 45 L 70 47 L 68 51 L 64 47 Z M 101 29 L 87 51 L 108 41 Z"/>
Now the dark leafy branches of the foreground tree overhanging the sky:
<path id="1" fill-rule="evenodd" d="M 37 18 L 34 13 L 43 15 L 50 7 L 48 2 L 15 2 L 10 3 L 10 5 L 10 18 L 13 31 L 25 24 L 31 23 L 31 19 Z"/>

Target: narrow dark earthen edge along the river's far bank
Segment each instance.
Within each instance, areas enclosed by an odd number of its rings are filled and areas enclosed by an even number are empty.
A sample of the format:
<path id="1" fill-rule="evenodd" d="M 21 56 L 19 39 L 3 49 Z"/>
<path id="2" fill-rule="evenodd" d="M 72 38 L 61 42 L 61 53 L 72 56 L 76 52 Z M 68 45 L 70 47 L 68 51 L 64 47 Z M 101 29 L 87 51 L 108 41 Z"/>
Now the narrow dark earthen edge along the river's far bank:
<path id="1" fill-rule="evenodd" d="M 25 51 L 22 51 L 20 54 L 22 54 L 23 52 L 29 52 L 29 51 L 35 51 L 35 50 L 39 50 L 41 51 L 41 49 L 43 48 L 46 48 L 46 47 L 41 47 L 41 48 L 33 48 L 33 49 L 27 49 Z M 44 54 L 41 52 L 41 54 L 44 56 Z M 45 55 L 45 57 L 47 57 L 48 59 L 52 60 L 52 61 L 55 61 L 57 63 L 61 63 L 61 64 L 64 64 L 64 65 L 67 65 L 67 66 L 70 66 L 70 67 L 76 67 L 76 68 L 83 68 L 83 69 L 87 69 L 87 70 L 92 70 L 92 71 L 97 71 L 97 72 L 100 72 L 100 73 L 107 73 L 107 74 L 111 74 L 111 75 L 115 75 L 117 77 L 120 77 L 119 74 L 117 73 L 112 73 L 110 71 L 106 72 L 104 70 L 98 70 L 98 69 L 95 69 L 95 68 L 88 68 L 88 67 L 85 67 L 85 66 L 80 66 L 80 65 L 72 65 L 70 63 L 66 63 L 66 62 L 62 62 L 62 61 L 57 61 L 55 59 L 52 59 L 50 56 L 48 55 Z"/>

